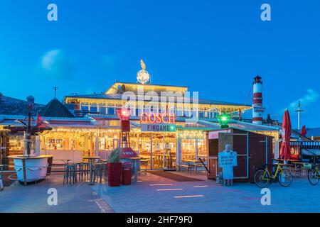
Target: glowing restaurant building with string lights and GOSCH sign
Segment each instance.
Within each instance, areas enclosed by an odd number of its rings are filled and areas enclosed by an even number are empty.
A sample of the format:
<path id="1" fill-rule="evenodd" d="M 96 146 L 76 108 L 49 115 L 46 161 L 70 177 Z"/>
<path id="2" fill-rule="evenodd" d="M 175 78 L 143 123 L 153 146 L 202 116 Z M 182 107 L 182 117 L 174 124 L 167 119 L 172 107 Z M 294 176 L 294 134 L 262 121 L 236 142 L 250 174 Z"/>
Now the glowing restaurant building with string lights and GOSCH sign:
<path id="1" fill-rule="evenodd" d="M 38 114 L 52 130 L 36 137 L 34 153 L 73 162 L 88 155 L 107 158 L 119 146 L 116 110 L 122 108 L 130 110 L 131 146 L 149 160 L 149 170 L 177 170 L 183 160 L 207 157 L 208 131 L 221 130 L 217 116 L 222 113 L 230 114 L 232 128 L 272 136 L 273 153 L 278 153 L 279 128 L 239 121 L 239 113 L 252 106 L 198 99 L 184 86 L 151 84 L 144 64 L 137 79 L 137 83 L 114 82 L 103 94 L 67 95 L 63 104 L 53 99 L 43 106 Z M 0 116 L 2 160 L 22 153 L 24 143 L 23 134 L 11 134 L 4 126 L 25 119 L 23 115 Z"/>

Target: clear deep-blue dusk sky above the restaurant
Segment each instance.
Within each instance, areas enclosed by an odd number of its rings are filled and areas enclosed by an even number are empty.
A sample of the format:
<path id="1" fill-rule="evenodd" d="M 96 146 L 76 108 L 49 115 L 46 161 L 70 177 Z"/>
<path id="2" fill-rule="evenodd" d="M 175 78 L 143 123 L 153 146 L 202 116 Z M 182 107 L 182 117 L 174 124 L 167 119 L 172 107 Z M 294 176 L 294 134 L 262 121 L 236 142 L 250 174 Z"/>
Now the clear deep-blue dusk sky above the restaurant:
<path id="1" fill-rule="evenodd" d="M 58 6 L 48 21 L 47 6 Z M 271 6 L 262 21 L 260 6 Z M 320 1 L 1 0 L 0 92 L 46 104 L 71 93 L 137 82 L 186 85 L 203 99 L 252 104 L 263 79 L 267 113 L 282 120 L 301 100 L 302 124 L 320 126 Z"/>

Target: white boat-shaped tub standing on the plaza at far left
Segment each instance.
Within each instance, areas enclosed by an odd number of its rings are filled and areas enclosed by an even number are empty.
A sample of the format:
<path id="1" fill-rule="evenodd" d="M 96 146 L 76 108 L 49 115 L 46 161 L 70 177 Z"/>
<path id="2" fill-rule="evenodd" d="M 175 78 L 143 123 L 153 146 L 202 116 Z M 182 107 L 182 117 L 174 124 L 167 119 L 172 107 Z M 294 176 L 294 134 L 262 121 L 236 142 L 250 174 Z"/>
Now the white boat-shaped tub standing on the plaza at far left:
<path id="1" fill-rule="evenodd" d="M 50 165 L 53 155 L 10 155 L 9 158 L 14 160 L 14 170 L 16 170 L 17 179 L 24 185 L 28 182 L 38 182 L 46 179 L 50 174 Z"/>

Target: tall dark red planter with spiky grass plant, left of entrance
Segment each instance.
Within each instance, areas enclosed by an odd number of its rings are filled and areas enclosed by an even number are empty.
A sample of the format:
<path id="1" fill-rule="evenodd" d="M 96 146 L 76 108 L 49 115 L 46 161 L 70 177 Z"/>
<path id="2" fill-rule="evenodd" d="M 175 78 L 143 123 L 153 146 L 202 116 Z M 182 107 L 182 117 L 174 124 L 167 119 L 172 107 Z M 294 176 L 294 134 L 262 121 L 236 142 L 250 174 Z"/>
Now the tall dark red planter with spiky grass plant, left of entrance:
<path id="1" fill-rule="evenodd" d="M 108 184 L 109 186 L 120 186 L 122 176 L 122 163 L 120 162 L 121 149 L 116 148 L 112 150 L 108 158 Z"/>

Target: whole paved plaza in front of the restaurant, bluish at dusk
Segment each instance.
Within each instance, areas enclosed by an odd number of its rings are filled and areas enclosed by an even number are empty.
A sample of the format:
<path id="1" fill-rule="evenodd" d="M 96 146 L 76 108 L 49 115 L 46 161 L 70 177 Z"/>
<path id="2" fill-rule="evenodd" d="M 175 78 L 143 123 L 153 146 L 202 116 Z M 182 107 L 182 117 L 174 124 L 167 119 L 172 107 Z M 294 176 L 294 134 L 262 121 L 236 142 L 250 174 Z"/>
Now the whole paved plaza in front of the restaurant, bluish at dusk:
<path id="1" fill-rule="evenodd" d="M 6 187 L 0 192 L 0 212 L 320 212 L 320 184 L 311 186 L 305 177 L 287 188 L 272 184 L 271 205 L 262 206 L 255 184 L 223 187 L 204 175 L 188 176 L 203 181 L 176 182 L 148 173 L 122 187 L 63 185 L 62 175 L 55 174 L 35 185 Z M 58 191 L 57 206 L 47 204 L 49 188 Z"/>

